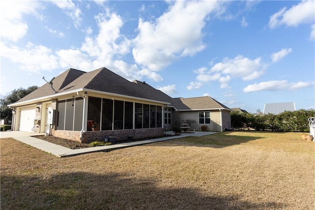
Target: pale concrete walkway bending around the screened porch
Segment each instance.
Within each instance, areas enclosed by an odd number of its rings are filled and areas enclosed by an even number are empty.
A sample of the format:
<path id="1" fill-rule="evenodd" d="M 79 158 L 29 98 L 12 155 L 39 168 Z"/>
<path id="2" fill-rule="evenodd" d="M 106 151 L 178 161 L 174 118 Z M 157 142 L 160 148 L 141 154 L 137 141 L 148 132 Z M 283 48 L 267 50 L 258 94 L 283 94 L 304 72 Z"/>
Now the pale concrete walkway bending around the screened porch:
<path id="1" fill-rule="evenodd" d="M 132 141 L 132 142 L 126 142 L 126 143 L 107 145 L 107 146 L 95 146 L 95 147 L 89 147 L 89 148 L 83 148 L 83 149 L 69 149 L 64 146 L 60 146 L 60 145 L 57 145 L 57 144 L 54 144 L 45 140 L 33 138 L 32 136 L 44 135 L 44 134 L 39 134 L 39 133 L 34 133 L 34 132 L 23 132 L 23 131 L 0 132 L 0 139 L 13 138 L 15 140 L 19 140 L 23 143 L 29 144 L 33 147 L 36 147 L 50 154 L 56 155 L 57 157 L 67 157 L 67 156 L 75 156 L 75 155 L 91 153 L 91 152 L 110 151 L 113 149 L 125 148 L 125 147 L 153 143 L 153 142 L 158 142 L 158 141 L 178 139 L 178 138 L 183 138 L 187 136 L 201 137 L 201 136 L 211 135 L 215 133 L 216 132 L 196 131 L 194 133 L 182 133 L 180 136 L 163 137 L 163 138 L 152 139 L 152 140 Z M 172 135 L 173 132 L 168 131 L 168 132 L 165 132 L 165 134 Z"/>

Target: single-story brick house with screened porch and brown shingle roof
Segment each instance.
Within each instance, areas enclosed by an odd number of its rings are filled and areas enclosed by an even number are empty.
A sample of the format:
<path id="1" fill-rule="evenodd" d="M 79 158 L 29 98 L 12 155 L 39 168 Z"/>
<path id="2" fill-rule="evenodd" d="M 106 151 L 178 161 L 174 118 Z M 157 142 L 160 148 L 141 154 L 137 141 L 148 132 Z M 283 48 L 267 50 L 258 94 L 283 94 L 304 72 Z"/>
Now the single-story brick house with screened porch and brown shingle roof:
<path id="1" fill-rule="evenodd" d="M 106 68 L 68 69 L 9 106 L 12 130 L 81 142 L 162 136 L 185 119 L 195 122 L 190 130 L 207 125 L 221 132 L 231 127 L 231 109 L 210 97 L 173 99 Z"/>

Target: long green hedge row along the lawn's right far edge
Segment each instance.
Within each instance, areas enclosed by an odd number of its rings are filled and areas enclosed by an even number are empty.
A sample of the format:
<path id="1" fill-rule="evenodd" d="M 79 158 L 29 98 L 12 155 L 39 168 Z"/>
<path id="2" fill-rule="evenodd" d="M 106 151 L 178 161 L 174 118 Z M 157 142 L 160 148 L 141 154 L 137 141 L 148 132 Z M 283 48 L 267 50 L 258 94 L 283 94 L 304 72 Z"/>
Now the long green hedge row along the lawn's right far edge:
<path id="1" fill-rule="evenodd" d="M 315 117 L 315 110 L 300 109 L 280 114 L 252 114 L 231 112 L 232 127 L 256 131 L 310 132 L 309 117 Z"/>

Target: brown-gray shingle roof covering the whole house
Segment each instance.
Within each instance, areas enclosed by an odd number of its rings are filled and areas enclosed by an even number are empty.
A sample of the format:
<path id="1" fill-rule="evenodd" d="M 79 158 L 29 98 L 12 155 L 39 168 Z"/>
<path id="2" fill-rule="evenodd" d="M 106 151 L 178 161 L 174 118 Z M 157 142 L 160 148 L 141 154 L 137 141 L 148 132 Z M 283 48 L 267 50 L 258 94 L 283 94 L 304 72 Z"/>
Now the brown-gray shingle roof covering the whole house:
<path id="1" fill-rule="evenodd" d="M 53 80 L 53 88 L 60 93 L 67 93 L 78 89 L 90 89 L 95 91 L 120 94 L 136 98 L 154 100 L 169 103 L 178 110 L 194 109 L 229 109 L 227 106 L 211 97 L 176 98 L 173 99 L 160 90 L 141 81 L 130 82 L 127 79 L 106 68 L 100 68 L 90 72 L 68 69 Z M 26 97 L 19 100 L 28 100 L 50 96 L 55 94 L 49 84 L 44 84 Z"/>

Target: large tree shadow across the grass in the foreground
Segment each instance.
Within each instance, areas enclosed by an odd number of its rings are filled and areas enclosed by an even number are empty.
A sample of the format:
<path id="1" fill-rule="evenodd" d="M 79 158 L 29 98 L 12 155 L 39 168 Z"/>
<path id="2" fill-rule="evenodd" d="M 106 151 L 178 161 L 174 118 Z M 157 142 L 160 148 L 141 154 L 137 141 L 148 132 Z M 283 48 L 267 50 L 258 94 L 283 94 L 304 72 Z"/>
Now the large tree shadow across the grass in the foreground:
<path id="1" fill-rule="evenodd" d="M 242 195 L 204 195 L 191 188 L 158 188 L 156 180 L 123 174 L 64 173 L 48 179 L 1 176 L 1 209 L 277 209 Z"/>

